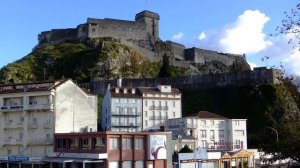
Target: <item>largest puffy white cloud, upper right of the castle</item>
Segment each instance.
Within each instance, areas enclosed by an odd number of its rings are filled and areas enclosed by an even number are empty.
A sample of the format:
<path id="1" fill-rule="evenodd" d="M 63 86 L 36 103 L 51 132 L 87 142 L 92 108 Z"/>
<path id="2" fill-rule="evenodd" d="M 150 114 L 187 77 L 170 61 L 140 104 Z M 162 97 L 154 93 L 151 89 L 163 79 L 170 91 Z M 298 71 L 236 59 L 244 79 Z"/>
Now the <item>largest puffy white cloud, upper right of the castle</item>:
<path id="1" fill-rule="evenodd" d="M 258 10 L 246 10 L 235 22 L 206 34 L 200 46 L 235 54 L 257 53 L 272 45 L 263 32 L 264 25 L 269 20 L 269 17 Z"/>

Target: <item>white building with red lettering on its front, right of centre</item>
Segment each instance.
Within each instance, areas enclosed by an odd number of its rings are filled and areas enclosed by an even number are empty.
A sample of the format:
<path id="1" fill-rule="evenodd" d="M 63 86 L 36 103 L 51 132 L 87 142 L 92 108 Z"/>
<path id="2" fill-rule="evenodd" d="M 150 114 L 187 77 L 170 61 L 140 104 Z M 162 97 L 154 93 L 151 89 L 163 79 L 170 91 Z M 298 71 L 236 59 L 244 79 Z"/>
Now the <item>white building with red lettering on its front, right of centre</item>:
<path id="1" fill-rule="evenodd" d="M 167 129 L 194 137 L 196 148 L 207 151 L 235 151 L 247 149 L 246 119 L 229 119 L 207 111 L 185 118 L 169 119 Z M 184 144 L 175 143 L 180 150 Z"/>

